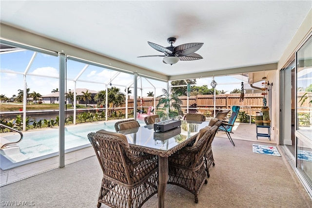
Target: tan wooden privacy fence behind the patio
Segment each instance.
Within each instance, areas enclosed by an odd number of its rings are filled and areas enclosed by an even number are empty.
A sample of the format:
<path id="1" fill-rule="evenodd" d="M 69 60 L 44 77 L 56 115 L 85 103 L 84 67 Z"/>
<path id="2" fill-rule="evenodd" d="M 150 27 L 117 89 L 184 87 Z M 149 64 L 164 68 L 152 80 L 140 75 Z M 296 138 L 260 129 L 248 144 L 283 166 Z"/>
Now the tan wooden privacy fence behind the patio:
<path id="1" fill-rule="evenodd" d="M 184 113 L 187 110 L 187 96 L 179 97 L 183 104 L 181 108 Z M 256 115 L 256 112 L 261 111 L 261 107 L 263 106 L 262 99 L 263 95 L 260 93 L 257 94 L 245 94 L 244 100 L 239 101 L 240 94 L 220 94 L 215 95 L 215 108 L 216 109 L 231 109 L 232 106 L 237 105 L 241 106 L 241 111 L 245 111 L 246 113 L 251 115 Z M 158 99 L 156 98 L 156 105 L 158 103 Z M 214 95 L 196 95 L 189 97 L 189 105 L 197 104 L 197 113 L 206 113 L 207 111 L 213 113 L 214 111 Z M 128 100 L 128 112 L 133 110 L 133 99 Z M 149 106 L 154 106 L 154 97 L 151 98 L 143 98 L 142 107 L 146 112 Z M 125 108 L 125 104 L 122 106 Z M 140 99 L 137 99 L 137 109 L 140 109 Z M 191 110 L 191 109 L 190 109 Z M 121 110 L 124 113 L 124 109 Z"/>

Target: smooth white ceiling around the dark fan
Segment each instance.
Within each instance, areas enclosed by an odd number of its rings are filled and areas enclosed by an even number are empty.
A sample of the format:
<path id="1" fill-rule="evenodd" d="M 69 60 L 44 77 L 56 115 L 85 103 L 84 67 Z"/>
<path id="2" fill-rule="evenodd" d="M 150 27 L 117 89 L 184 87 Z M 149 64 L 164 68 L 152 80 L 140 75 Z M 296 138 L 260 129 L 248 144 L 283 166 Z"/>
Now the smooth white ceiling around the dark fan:
<path id="1" fill-rule="evenodd" d="M 311 0 L 1 0 L 1 23 L 168 76 L 276 63 Z M 203 59 L 162 62 L 147 41 L 203 42 Z"/>

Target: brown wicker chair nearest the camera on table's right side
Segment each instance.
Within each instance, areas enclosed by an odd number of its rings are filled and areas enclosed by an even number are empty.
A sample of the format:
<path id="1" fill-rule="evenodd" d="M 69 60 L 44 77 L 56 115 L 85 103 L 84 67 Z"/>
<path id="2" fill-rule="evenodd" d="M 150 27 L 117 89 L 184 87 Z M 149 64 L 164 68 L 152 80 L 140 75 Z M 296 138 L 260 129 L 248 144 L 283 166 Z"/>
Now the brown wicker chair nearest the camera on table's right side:
<path id="1" fill-rule="evenodd" d="M 202 185 L 208 182 L 204 156 L 217 129 L 216 126 L 201 129 L 194 144 L 191 142 L 168 158 L 168 184 L 180 186 L 193 193 L 195 203 L 198 203 L 198 193 Z"/>

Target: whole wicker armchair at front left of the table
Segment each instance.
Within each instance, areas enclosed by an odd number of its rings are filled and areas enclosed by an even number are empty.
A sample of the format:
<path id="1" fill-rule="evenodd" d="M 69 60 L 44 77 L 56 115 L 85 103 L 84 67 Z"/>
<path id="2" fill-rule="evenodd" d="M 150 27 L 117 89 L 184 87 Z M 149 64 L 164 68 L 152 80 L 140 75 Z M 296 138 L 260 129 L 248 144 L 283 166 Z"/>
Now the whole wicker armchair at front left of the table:
<path id="1" fill-rule="evenodd" d="M 132 151 L 127 137 L 100 130 L 88 134 L 103 171 L 98 195 L 99 208 L 140 208 L 157 193 L 157 156 Z"/>

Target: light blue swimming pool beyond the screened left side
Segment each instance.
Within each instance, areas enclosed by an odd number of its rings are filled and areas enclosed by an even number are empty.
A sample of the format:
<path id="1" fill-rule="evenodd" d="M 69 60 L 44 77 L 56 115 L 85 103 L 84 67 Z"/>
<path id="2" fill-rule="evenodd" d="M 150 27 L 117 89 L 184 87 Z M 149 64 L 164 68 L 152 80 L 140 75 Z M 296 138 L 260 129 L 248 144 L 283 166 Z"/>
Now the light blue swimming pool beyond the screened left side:
<path id="1" fill-rule="evenodd" d="M 144 126 L 144 121 L 138 120 L 141 126 Z M 88 133 L 97 132 L 104 129 L 106 131 L 115 132 L 116 121 L 98 122 L 78 124 L 65 127 L 65 153 L 76 151 L 85 147 L 91 146 L 88 140 Z M 19 135 L 19 134 L 18 134 Z M 17 166 L 24 165 L 30 162 L 39 161 L 59 154 L 59 129 L 44 129 L 33 132 L 23 132 L 23 139 L 17 145 L 20 147 L 18 152 L 11 151 L 4 154 L 1 151 L 1 169 L 5 170 L 7 166 L 12 167 L 11 163 Z M 1 135 L 9 141 L 16 141 L 17 133 L 9 135 Z"/>

